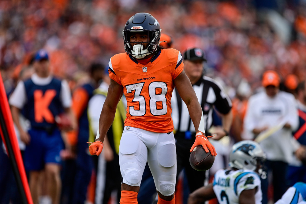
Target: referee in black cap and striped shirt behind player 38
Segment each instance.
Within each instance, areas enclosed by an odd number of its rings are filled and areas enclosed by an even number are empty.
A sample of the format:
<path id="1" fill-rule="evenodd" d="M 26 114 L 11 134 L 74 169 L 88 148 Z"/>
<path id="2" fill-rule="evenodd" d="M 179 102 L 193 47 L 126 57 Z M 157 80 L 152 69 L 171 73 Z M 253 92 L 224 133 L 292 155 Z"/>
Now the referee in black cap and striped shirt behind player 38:
<path id="1" fill-rule="evenodd" d="M 203 76 L 203 62 L 206 62 L 206 58 L 203 50 L 200 48 L 188 49 L 184 53 L 184 70 L 202 106 L 205 131 L 208 131 L 212 126 L 214 108 L 220 113 L 222 128 L 213 132 L 215 135 L 213 139 L 219 140 L 229 134 L 233 118 L 231 111 L 232 103 L 217 81 Z M 176 131 L 174 136 L 177 141 L 177 175 L 185 168 L 191 193 L 197 188 L 202 187 L 205 180 L 205 172 L 196 171 L 189 164 L 189 150 L 195 141 L 196 132 L 187 106 L 176 89 L 173 91 L 171 106 L 174 129 Z"/>

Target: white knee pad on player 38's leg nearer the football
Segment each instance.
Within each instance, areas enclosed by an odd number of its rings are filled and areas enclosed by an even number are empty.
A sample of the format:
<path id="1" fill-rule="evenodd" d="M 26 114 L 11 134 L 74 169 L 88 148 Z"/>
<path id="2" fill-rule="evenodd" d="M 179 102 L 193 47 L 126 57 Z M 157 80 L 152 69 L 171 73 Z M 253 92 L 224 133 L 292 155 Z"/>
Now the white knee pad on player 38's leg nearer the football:
<path id="1" fill-rule="evenodd" d="M 164 196 L 170 196 L 175 191 L 175 175 L 160 176 L 158 179 L 157 190 Z"/>

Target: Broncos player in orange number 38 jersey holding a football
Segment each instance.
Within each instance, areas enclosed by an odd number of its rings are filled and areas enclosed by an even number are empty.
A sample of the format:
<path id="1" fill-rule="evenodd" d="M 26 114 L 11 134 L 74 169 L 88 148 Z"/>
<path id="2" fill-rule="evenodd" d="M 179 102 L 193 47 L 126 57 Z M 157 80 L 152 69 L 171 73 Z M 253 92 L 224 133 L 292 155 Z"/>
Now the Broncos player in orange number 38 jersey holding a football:
<path id="1" fill-rule="evenodd" d="M 137 203 L 141 176 L 148 162 L 159 195 L 158 203 L 175 203 L 176 149 L 171 118 L 174 87 L 186 103 L 196 129 L 191 150 L 202 145 L 217 155 L 205 137 L 201 106 L 183 69 L 182 54 L 159 47 L 159 22 L 149 13 L 136 13 L 125 24 L 125 53 L 109 61 L 111 79 L 99 121 L 99 131 L 90 154 L 99 155 L 116 106 L 127 100 L 125 129 L 119 147 L 122 175 L 120 203 Z"/>

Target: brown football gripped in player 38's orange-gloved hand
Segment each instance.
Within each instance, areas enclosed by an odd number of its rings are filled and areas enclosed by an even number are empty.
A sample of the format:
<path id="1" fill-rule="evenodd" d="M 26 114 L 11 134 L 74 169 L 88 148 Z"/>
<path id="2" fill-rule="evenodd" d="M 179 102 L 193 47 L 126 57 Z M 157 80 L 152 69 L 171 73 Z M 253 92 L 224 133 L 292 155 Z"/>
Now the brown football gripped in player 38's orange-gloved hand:
<path id="1" fill-rule="evenodd" d="M 197 171 L 206 171 L 211 168 L 214 164 L 215 156 L 211 155 L 211 152 L 208 150 L 206 153 L 204 148 L 199 145 L 196 146 L 193 151 L 190 153 L 189 163 L 193 169 Z"/>

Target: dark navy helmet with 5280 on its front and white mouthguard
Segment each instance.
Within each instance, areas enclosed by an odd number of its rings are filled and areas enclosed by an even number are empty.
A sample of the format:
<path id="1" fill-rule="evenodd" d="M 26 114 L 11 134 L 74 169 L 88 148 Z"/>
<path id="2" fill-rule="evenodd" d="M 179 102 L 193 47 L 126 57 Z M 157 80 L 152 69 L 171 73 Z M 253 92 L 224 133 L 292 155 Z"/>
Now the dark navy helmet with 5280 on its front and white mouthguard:
<path id="1" fill-rule="evenodd" d="M 133 57 L 141 59 L 151 54 L 159 47 L 160 33 L 159 22 L 149 13 L 136 13 L 126 22 L 122 31 L 125 52 Z M 148 41 L 132 47 L 130 42 L 131 32 L 144 32 L 148 35 Z M 143 43 L 149 43 L 144 47 Z"/>

